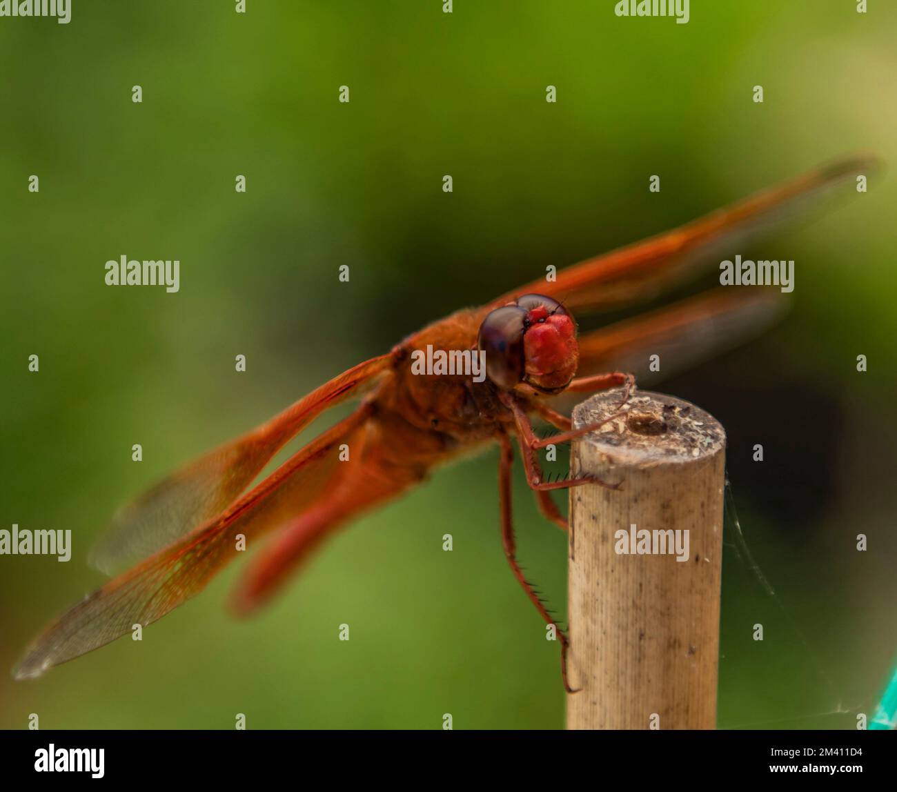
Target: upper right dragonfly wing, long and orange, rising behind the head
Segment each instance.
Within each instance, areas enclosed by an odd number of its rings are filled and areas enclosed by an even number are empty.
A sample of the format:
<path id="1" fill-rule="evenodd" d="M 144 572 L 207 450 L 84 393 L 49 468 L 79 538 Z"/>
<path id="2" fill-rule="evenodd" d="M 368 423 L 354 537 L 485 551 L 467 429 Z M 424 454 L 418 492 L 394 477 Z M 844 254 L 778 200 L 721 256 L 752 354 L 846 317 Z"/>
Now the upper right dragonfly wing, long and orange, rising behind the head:
<path id="1" fill-rule="evenodd" d="M 692 270 L 719 254 L 734 257 L 749 236 L 766 231 L 823 196 L 847 193 L 860 174 L 877 170 L 871 157 L 856 157 L 815 170 L 778 187 L 764 190 L 736 204 L 619 248 L 603 256 L 563 269 L 554 282 L 544 277 L 495 300 L 489 308 L 514 297 L 536 292 L 560 300 L 564 306 L 589 312 L 648 300 L 684 279 Z"/>

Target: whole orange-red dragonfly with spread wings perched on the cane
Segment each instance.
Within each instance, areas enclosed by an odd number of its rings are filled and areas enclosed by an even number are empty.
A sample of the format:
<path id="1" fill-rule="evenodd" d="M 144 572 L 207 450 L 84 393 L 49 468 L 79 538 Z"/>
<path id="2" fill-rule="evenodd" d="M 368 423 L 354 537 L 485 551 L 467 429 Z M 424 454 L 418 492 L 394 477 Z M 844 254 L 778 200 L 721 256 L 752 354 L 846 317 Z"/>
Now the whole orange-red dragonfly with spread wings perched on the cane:
<path id="1" fill-rule="evenodd" d="M 671 345 L 682 352 L 679 362 L 697 360 L 762 328 L 777 312 L 780 295 L 719 287 L 580 338 L 572 312 L 654 296 L 714 255 L 733 255 L 747 235 L 793 213 L 807 198 L 848 191 L 874 164 L 862 157 L 840 161 L 675 231 L 570 266 L 553 281 L 543 278 L 482 308 L 460 310 L 331 379 L 257 429 L 181 468 L 122 511 L 94 560 L 105 569 L 145 560 L 52 622 L 13 674 L 39 676 L 135 624 L 161 619 L 202 591 L 237 556 L 241 542 L 255 542 L 271 531 L 274 536 L 250 561 L 233 597 L 237 612 L 251 612 L 336 527 L 408 491 L 462 452 L 498 443 L 504 551 L 536 610 L 557 630 L 562 676 L 570 690 L 566 636 L 518 566 L 510 511 L 512 437 L 539 508 L 566 529 L 549 492 L 588 479 L 545 481 L 536 452 L 594 427 L 571 431 L 570 419 L 556 409 L 558 397 L 623 386 L 625 400 L 633 378 L 613 370 L 614 361 L 629 363 L 631 370 L 642 352 Z M 414 352 L 428 346 L 485 352 L 485 378 L 469 372 L 415 373 Z M 361 404 L 353 413 L 244 492 L 309 422 L 358 397 Z M 560 434 L 540 440 L 531 414 Z"/>

